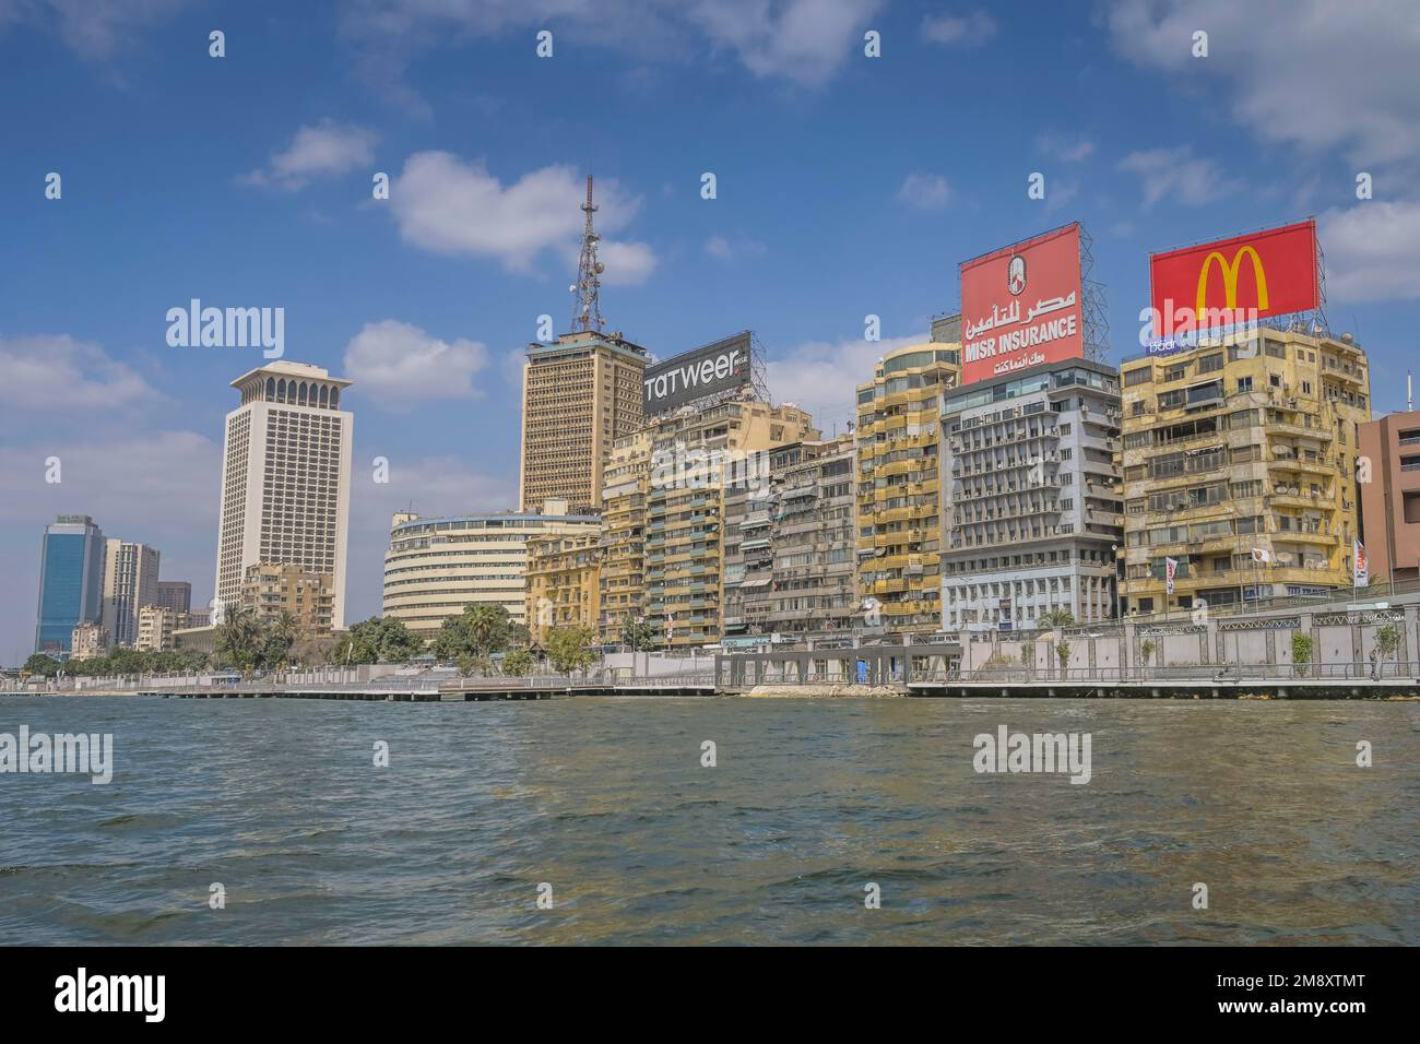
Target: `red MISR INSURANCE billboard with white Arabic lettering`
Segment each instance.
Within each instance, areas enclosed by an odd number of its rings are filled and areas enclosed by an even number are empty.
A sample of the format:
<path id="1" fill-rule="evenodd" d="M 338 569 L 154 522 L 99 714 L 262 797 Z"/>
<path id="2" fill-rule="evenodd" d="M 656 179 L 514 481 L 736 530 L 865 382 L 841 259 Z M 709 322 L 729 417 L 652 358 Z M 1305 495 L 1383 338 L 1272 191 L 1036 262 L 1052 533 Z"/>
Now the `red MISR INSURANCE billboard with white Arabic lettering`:
<path id="1" fill-rule="evenodd" d="M 961 384 L 1085 355 L 1079 223 L 961 263 Z"/>

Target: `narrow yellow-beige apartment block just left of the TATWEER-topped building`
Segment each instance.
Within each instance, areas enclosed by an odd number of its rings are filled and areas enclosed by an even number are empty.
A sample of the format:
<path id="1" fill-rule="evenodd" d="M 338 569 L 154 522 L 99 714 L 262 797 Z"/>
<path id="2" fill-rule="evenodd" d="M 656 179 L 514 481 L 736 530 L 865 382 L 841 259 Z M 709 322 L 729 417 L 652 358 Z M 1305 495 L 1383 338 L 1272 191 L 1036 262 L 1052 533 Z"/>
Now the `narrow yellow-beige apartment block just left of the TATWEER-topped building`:
<path id="1" fill-rule="evenodd" d="M 646 612 L 646 490 L 650 483 L 650 432 L 612 443 L 602 476 L 602 562 L 598 584 L 598 636 L 619 642 L 628 619 Z"/>

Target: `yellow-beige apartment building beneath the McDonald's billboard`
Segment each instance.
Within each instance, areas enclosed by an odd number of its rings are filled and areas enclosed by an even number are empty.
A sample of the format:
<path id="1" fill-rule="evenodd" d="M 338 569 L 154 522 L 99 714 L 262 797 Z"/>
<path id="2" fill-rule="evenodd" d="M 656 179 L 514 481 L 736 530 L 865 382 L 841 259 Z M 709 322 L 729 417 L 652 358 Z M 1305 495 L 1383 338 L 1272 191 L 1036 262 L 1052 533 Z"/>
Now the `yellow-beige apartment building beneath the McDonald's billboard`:
<path id="1" fill-rule="evenodd" d="M 1242 331 L 1126 359 L 1122 384 L 1125 612 L 1350 587 L 1360 345 Z"/>

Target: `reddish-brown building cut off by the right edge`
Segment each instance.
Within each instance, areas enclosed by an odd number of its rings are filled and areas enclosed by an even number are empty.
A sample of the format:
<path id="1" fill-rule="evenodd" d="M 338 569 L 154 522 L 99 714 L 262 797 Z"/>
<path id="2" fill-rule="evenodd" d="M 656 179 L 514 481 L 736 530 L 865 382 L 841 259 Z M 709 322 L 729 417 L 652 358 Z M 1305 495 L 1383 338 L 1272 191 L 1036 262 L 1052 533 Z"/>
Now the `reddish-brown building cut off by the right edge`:
<path id="1" fill-rule="evenodd" d="M 1360 426 L 1360 533 L 1370 577 L 1420 580 L 1420 412 Z"/>

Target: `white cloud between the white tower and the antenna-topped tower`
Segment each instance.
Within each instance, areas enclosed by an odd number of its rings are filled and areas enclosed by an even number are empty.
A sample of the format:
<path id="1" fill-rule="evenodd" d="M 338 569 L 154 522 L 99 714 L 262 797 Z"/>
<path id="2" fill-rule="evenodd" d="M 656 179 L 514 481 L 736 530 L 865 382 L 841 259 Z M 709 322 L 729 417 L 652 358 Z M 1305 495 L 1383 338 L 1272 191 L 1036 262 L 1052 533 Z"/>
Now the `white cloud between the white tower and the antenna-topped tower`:
<path id="1" fill-rule="evenodd" d="M 473 378 L 487 362 L 488 349 L 477 341 L 440 341 L 396 320 L 366 322 L 345 345 L 345 372 L 355 388 L 390 409 L 481 395 Z"/>

